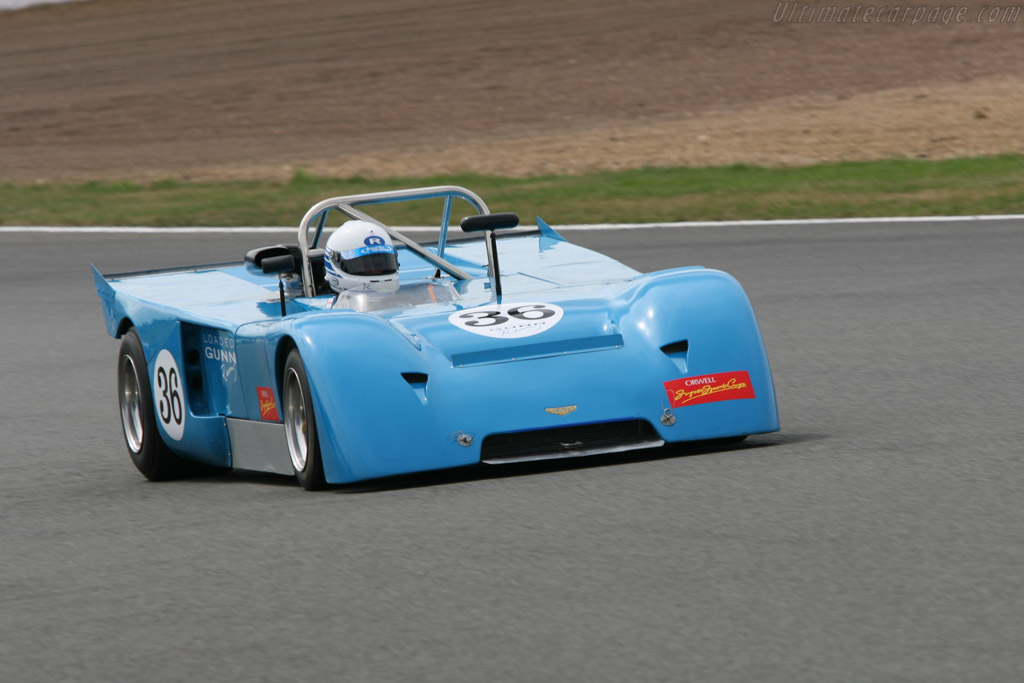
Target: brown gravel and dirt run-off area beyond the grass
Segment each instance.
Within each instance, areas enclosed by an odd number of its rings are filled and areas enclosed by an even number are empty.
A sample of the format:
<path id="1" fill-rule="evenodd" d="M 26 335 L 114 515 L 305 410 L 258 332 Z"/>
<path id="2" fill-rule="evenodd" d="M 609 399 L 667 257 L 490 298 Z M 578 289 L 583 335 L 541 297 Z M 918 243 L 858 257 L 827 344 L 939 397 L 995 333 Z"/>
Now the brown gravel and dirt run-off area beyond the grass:
<path id="1" fill-rule="evenodd" d="M 91 0 L 2 12 L 0 181 L 1024 153 L 1024 12 L 822 25 L 773 22 L 778 5 Z"/>

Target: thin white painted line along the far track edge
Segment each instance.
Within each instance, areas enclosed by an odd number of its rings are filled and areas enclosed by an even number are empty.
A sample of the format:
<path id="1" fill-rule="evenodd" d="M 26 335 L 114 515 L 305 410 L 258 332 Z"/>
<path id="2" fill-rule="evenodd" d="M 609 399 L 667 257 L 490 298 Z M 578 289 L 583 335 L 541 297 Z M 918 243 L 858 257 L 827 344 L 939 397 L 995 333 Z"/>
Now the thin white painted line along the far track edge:
<path id="1" fill-rule="evenodd" d="M 800 218 L 794 220 L 694 220 L 665 223 L 587 223 L 554 225 L 556 230 L 644 230 L 671 229 L 680 227 L 773 227 L 785 225 L 848 225 L 865 223 L 956 223 L 973 221 L 1024 220 L 1024 214 L 980 215 L 980 216 L 881 216 L 873 218 Z M 396 226 L 397 227 L 397 226 Z M 536 227 L 523 225 L 523 227 Z M 80 232 L 102 234 L 217 234 L 217 233 L 258 233 L 295 232 L 294 227 L 142 227 L 142 226 L 38 226 L 0 225 L 0 233 L 10 232 Z M 431 231 L 436 227 L 408 226 L 398 229 L 410 231 Z"/>

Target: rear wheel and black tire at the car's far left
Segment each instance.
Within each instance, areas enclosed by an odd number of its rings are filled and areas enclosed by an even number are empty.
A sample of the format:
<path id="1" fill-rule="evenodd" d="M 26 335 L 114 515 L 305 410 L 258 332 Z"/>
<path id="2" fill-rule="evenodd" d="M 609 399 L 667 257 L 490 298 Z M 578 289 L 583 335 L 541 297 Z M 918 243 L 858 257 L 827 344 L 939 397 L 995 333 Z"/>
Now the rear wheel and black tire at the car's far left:
<path id="1" fill-rule="evenodd" d="M 118 402 L 121 429 L 128 455 L 139 472 L 150 481 L 164 481 L 181 476 L 187 463 L 164 443 L 157 429 L 153 408 L 153 388 L 145 365 L 142 342 L 135 328 L 121 338 L 118 354 Z"/>

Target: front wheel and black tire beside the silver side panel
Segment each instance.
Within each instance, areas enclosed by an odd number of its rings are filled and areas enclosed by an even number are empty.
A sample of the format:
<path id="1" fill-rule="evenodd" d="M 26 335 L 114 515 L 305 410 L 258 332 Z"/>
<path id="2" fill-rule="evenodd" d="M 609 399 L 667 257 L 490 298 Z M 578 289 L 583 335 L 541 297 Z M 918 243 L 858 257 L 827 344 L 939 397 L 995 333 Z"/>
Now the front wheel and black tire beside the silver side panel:
<path id="1" fill-rule="evenodd" d="M 316 435 L 316 417 L 313 415 L 306 367 L 297 348 L 293 348 L 285 360 L 281 402 L 288 455 L 292 459 L 295 478 L 306 490 L 322 490 L 327 487 L 327 479 L 324 477 L 324 462 Z"/>

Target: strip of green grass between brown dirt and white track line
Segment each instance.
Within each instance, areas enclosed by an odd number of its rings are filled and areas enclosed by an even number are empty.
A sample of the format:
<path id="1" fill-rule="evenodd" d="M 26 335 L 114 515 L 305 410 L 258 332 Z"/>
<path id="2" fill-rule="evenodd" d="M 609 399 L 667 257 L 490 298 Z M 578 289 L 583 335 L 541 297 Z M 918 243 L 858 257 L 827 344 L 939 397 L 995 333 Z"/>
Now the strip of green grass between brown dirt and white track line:
<path id="1" fill-rule="evenodd" d="M 493 211 L 553 224 L 1024 213 L 1024 157 L 846 162 L 798 168 L 646 168 L 503 178 L 324 178 L 285 182 L 163 180 L 150 184 L 0 184 L 5 225 L 297 225 L 341 195 L 458 184 Z M 396 205 L 394 224 L 435 224 L 438 206 Z M 466 213 L 456 207 L 455 222 Z M 376 215 L 376 214 L 375 214 Z"/>

